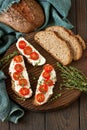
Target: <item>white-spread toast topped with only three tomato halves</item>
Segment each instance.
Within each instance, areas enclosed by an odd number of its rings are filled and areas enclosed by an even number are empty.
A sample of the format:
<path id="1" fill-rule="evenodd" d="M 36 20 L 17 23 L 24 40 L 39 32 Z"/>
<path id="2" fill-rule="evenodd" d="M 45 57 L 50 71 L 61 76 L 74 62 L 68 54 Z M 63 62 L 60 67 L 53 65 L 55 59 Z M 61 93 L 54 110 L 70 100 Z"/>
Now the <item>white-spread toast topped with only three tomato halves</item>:
<path id="1" fill-rule="evenodd" d="M 16 47 L 19 52 L 25 56 L 29 63 L 33 66 L 43 65 L 46 62 L 46 59 L 23 37 L 19 38 Z"/>

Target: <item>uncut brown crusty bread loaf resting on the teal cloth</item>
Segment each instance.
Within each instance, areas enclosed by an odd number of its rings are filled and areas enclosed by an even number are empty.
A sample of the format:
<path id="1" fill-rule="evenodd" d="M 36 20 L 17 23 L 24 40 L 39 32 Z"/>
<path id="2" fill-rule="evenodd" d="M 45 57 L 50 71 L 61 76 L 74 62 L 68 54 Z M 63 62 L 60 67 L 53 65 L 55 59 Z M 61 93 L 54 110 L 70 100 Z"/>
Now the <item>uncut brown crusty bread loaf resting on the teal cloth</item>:
<path id="1" fill-rule="evenodd" d="M 0 14 L 0 22 L 19 32 L 32 32 L 44 23 L 44 12 L 35 0 L 21 0 Z"/>

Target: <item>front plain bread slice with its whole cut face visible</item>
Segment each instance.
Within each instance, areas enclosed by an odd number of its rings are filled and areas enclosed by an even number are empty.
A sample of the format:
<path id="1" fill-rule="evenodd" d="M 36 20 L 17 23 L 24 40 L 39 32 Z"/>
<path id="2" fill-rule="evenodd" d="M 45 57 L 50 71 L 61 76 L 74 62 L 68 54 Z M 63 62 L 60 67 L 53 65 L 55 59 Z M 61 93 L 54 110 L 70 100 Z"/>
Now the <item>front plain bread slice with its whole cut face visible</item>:
<path id="1" fill-rule="evenodd" d="M 34 36 L 35 41 L 63 65 L 72 61 L 72 53 L 67 42 L 52 31 L 40 31 Z"/>

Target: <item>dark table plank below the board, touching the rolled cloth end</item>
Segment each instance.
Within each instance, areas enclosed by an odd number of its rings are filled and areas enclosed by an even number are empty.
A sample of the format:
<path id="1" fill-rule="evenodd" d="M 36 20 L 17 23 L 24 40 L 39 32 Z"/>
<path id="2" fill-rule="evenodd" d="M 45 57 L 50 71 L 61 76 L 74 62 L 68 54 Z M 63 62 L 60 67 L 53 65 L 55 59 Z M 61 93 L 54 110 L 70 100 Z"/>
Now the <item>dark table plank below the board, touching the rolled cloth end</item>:
<path id="1" fill-rule="evenodd" d="M 26 118 L 25 118 L 26 117 Z M 25 117 L 23 117 L 20 122 L 15 124 L 10 124 L 10 130 L 44 130 L 44 113 L 32 113 L 26 111 Z"/>

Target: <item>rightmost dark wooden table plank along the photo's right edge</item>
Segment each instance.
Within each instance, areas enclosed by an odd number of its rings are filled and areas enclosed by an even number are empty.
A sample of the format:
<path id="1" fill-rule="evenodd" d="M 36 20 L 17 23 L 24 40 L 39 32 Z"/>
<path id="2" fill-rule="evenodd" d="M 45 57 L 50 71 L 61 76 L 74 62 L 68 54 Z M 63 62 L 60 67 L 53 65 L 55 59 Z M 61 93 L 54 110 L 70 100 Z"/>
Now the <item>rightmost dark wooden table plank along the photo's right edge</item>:
<path id="1" fill-rule="evenodd" d="M 78 6 L 79 4 L 79 6 Z M 77 32 L 83 36 L 87 42 L 87 0 L 76 1 L 77 12 Z M 85 65 L 87 66 L 87 65 Z M 85 68 L 84 66 L 84 68 Z M 80 97 L 80 130 L 87 130 L 87 95 Z"/>

